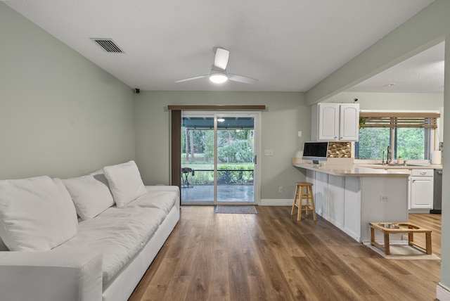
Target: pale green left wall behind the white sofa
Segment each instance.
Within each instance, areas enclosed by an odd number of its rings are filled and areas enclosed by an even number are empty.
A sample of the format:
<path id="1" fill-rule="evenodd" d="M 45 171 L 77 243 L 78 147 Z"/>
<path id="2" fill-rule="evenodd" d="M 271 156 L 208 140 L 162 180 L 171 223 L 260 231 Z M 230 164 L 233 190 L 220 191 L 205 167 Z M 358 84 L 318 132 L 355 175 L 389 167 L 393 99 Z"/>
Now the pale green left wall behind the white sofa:
<path id="1" fill-rule="evenodd" d="M 0 179 L 134 159 L 132 90 L 0 3 Z"/>

